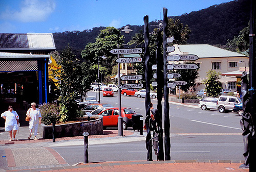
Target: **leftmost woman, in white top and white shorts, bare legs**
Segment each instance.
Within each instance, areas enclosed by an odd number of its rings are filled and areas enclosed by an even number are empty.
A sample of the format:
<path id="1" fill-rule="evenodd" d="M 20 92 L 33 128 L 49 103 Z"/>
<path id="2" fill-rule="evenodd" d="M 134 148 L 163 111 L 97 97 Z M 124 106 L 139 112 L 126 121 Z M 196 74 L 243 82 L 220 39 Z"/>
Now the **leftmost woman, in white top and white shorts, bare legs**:
<path id="1" fill-rule="evenodd" d="M 18 119 L 19 116 L 16 111 L 12 109 L 12 106 L 8 107 L 8 111 L 5 111 L 1 114 L 1 117 L 5 119 L 5 131 L 9 131 L 10 140 L 12 141 L 12 130 L 13 130 L 13 139 L 16 141 L 16 133 L 18 129 Z"/>

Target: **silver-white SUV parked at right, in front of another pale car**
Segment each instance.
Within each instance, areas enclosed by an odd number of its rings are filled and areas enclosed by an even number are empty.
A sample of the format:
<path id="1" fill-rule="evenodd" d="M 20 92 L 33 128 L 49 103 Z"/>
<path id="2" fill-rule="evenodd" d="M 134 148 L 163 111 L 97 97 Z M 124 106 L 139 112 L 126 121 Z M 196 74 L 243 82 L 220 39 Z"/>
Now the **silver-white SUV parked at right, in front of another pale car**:
<path id="1" fill-rule="evenodd" d="M 235 104 L 241 103 L 239 97 L 234 97 L 230 95 L 221 95 L 217 102 L 217 108 L 219 112 L 228 112 L 232 111 Z"/>

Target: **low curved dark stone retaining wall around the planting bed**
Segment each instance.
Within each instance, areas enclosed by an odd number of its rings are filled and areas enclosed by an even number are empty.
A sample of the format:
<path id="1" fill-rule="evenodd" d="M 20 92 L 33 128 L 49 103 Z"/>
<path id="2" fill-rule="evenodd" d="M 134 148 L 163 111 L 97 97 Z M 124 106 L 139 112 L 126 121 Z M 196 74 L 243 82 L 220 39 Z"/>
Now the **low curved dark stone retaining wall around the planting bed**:
<path id="1" fill-rule="evenodd" d="M 93 117 L 98 117 L 98 119 L 56 125 L 55 138 L 81 136 L 83 132 L 88 132 L 89 135 L 103 134 L 103 117 L 100 115 L 93 115 Z M 41 124 L 38 126 L 38 132 L 41 133 L 44 139 L 52 138 L 52 126 Z"/>

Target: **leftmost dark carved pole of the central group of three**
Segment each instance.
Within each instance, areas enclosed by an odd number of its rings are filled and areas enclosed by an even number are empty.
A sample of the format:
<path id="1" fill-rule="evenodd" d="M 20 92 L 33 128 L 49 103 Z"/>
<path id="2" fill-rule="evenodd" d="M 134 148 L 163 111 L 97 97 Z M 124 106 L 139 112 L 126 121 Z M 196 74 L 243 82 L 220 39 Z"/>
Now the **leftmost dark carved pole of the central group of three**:
<path id="1" fill-rule="evenodd" d="M 144 41 L 145 41 L 145 81 L 146 81 L 146 96 L 145 96 L 145 108 L 146 108 L 146 118 L 145 118 L 145 125 L 146 125 L 146 149 L 147 149 L 147 161 L 152 160 L 152 144 L 151 144 L 151 131 L 149 127 L 149 120 L 150 120 L 150 79 L 148 76 L 148 61 L 150 60 L 150 51 L 148 49 L 148 39 L 150 34 L 148 33 L 148 15 L 144 16 Z"/>

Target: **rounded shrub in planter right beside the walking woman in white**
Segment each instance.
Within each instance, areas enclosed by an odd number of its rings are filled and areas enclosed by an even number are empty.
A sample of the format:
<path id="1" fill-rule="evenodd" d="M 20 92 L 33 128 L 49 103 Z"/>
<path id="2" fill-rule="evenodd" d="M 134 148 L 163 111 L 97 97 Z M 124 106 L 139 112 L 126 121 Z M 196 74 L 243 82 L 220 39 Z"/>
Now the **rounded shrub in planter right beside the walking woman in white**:
<path id="1" fill-rule="evenodd" d="M 45 125 L 51 125 L 53 121 L 59 122 L 59 107 L 54 103 L 44 103 L 40 107 L 41 122 Z"/>

